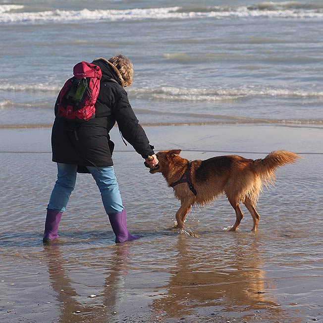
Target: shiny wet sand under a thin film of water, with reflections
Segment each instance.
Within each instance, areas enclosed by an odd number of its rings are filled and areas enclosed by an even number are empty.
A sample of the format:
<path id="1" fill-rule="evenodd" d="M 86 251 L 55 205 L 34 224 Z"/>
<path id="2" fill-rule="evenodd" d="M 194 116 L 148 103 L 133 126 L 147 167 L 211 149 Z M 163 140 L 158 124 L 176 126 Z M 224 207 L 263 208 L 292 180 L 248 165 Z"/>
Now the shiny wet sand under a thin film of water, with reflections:
<path id="1" fill-rule="evenodd" d="M 146 127 L 155 145 L 182 157 L 272 150 L 302 160 L 277 171 L 259 202 L 259 231 L 225 198 L 172 229 L 179 206 L 160 174 L 125 147 L 117 129 L 115 172 L 128 228 L 141 239 L 114 244 L 90 175 L 79 175 L 60 238 L 43 246 L 45 209 L 55 180 L 50 129 L 0 129 L 0 316 L 2 323 L 266 322 L 323 320 L 323 129 L 281 125 Z"/>

